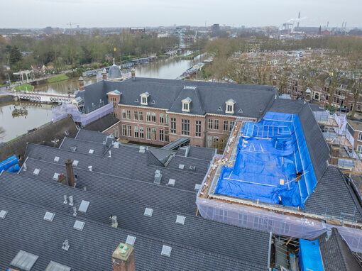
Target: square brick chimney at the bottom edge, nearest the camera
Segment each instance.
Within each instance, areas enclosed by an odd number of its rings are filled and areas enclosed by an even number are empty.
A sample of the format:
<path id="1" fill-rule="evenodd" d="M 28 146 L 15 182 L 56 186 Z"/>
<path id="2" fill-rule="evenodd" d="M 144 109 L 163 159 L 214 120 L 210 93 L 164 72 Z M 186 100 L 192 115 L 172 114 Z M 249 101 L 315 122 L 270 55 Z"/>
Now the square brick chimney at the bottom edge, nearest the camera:
<path id="1" fill-rule="evenodd" d="M 120 243 L 112 254 L 114 271 L 135 271 L 133 245 Z"/>

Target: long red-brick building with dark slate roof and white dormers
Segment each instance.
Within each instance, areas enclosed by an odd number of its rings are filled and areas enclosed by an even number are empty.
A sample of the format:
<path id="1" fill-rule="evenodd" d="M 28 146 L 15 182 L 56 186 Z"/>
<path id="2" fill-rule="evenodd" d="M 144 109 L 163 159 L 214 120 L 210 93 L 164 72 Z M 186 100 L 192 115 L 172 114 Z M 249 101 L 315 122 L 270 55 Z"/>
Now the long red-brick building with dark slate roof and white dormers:
<path id="1" fill-rule="evenodd" d="M 236 118 L 258 121 L 276 94 L 258 85 L 137 78 L 98 82 L 77 96 L 85 106 L 113 102 L 121 139 L 166 145 L 186 137 L 191 145 L 211 147 L 227 140 Z"/>

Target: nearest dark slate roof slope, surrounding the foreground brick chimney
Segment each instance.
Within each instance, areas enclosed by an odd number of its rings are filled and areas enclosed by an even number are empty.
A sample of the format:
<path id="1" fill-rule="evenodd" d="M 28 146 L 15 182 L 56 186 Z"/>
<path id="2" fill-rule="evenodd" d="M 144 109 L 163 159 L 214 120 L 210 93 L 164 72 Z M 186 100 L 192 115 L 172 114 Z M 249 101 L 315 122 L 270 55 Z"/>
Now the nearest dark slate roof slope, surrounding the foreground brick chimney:
<path id="1" fill-rule="evenodd" d="M 248 262 L 225 258 L 215 253 L 199 250 L 174 242 L 167 243 L 161 238 L 151 238 L 121 228 L 111 228 L 89 219 L 84 221 L 83 231 L 73 228 L 78 218 L 69 212 L 54 211 L 38 204 L 28 204 L 21 199 L 0 197 L 0 208 L 9 213 L 0 221 L 0 268 L 10 267 L 19 250 L 38 255 L 32 270 L 45 270 L 51 260 L 67 265 L 74 271 L 113 270 L 111 254 L 124 243 L 128 235 L 136 236 L 136 270 L 267 270 Z M 53 211 L 53 221 L 45 221 L 46 211 Z M 68 240 L 70 248 L 62 250 L 62 243 Z M 163 245 L 172 247 L 171 256 L 160 254 Z"/>

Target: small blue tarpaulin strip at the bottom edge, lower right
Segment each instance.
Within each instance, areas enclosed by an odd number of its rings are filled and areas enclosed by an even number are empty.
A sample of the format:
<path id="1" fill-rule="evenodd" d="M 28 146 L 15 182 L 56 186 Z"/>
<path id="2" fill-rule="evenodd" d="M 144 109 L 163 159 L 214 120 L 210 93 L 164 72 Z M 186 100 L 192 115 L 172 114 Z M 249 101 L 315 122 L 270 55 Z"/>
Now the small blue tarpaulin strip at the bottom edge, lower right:
<path id="1" fill-rule="evenodd" d="M 299 262 L 301 271 L 324 271 L 318 240 L 300 239 Z"/>

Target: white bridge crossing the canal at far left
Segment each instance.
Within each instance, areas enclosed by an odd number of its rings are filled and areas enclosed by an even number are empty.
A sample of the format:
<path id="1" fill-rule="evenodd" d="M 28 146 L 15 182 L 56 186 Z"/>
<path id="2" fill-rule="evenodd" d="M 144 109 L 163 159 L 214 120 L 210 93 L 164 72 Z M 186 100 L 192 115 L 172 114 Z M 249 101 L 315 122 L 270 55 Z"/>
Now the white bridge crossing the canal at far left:
<path id="1" fill-rule="evenodd" d="M 74 94 L 49 94 L 46 92 L 10 92 L 10 95 L 19 100 L 38 101 L 42 103 L 71 104 Z"/>

